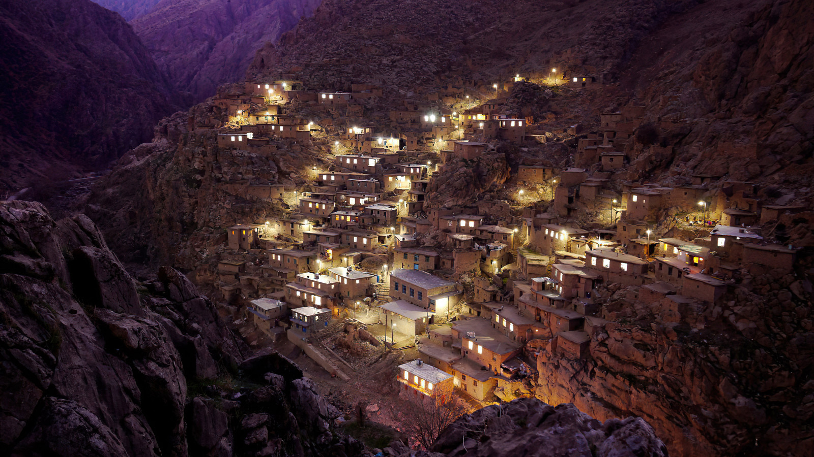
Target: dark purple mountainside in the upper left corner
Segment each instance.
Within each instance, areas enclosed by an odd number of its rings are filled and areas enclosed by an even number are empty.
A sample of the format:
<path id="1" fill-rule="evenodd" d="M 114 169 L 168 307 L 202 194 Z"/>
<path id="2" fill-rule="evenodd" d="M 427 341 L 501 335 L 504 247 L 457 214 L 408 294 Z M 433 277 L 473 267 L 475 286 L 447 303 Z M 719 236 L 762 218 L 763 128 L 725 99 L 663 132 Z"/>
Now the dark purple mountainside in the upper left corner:
<path id="1" fill-rule="evenodd" d="M 0 2 L 0 193 L 106 166 L 151 137 L 172 89 L 90 0 Z"/>

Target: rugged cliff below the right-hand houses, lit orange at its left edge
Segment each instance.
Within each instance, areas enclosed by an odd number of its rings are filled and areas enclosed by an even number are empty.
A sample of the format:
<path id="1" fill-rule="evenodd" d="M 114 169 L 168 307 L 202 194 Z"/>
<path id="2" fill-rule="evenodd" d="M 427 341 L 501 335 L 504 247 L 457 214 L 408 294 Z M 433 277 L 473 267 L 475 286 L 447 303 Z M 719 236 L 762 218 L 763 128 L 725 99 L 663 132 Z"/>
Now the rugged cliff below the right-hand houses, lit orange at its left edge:
<path id="1" fill-rule="evenodd" d="M 597 297 L 611 321 L 588 355 L 540 350 L 536 396 L 601 420 L 640 416 L 671 455 L 806 455 L 812 265 L 808 254 L 794 273 L 747 277 L 716 306 L 644 301 L 614 285 Z"/>

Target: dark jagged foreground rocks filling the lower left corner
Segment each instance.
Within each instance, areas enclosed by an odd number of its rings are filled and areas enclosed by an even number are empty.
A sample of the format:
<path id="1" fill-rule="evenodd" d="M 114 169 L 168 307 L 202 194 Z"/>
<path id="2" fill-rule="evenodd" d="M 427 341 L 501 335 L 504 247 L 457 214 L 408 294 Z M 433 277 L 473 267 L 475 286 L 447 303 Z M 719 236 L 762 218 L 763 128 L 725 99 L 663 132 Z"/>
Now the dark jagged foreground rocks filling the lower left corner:
<path id="1" fill-rule="evenodd" d="M 173 268 L 136 283 L 85 216 L 0 206 L 4 455 L 363 455 L 300 368 Z"/>

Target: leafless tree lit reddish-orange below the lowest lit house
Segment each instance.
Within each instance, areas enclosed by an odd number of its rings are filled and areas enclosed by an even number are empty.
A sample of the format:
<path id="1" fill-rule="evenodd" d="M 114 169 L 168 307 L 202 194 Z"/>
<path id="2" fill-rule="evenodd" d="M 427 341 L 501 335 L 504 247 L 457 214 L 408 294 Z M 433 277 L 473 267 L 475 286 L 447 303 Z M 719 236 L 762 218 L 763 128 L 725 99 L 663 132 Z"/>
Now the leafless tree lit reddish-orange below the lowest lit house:
<path id="1" fill-rule="evenodd" d="M 453 392 L 452 385 L 438 386 L 433 396 L 414 396 L 400 402 L 400 422 L 408 437 L 429 449 L 438 435 L 470 407 Z"/>

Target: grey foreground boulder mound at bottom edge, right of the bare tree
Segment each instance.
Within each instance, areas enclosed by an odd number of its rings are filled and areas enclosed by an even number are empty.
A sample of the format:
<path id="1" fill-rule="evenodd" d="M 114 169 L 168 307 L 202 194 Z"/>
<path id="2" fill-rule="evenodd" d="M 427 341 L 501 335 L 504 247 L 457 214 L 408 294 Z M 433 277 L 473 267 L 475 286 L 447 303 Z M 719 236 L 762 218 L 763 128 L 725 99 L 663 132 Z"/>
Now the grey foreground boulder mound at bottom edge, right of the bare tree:
<path id="1" fill-rule="evenodd" d="M 429 451 L 402 457 L 667 457 L 667 449 L 640 418 L 593 419 L 571 404 L 552 407 L 536 398 L 484 407 L 441 432 Z"/>

